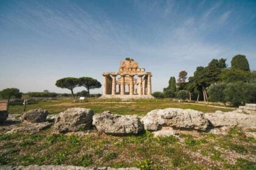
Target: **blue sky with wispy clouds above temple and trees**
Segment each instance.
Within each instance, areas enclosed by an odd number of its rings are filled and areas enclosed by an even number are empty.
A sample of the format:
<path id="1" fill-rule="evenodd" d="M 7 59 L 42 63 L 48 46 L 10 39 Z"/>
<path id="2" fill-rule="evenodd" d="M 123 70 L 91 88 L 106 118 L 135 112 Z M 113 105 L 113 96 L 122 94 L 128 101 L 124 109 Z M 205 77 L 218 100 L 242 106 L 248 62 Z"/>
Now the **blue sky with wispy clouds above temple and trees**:
<path id="1" fill-rule="evenodd" d="M 230 65 L 238 53 L 256 69 L 256 1 L 0 0 L 0 90 L 69 92 L 55 81 L 102 83 L 129 56 L 158 91 L 181 70 L 191 76 L 213 58 Z"/>

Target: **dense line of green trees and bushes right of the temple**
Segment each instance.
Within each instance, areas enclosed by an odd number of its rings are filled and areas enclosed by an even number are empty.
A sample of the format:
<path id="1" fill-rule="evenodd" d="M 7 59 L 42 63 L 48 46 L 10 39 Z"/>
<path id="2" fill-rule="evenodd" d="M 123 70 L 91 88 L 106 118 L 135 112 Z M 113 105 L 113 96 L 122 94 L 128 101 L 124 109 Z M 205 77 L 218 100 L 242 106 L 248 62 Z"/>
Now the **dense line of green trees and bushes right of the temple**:
<path id="1" fill-rule="evenodd" d="M 230 102 L 235 106 L 256 102 L 256 72 L 250 70 L 244 55 L 234 56 L 231 67 L 227 67 L 224 58 L 213 59 L 206 67 L 196 67 L 192 77 L 187 75 L 181 71 L 177 83 L 171 77 L 168 87 L 155 92 L 154 97 Z"/>

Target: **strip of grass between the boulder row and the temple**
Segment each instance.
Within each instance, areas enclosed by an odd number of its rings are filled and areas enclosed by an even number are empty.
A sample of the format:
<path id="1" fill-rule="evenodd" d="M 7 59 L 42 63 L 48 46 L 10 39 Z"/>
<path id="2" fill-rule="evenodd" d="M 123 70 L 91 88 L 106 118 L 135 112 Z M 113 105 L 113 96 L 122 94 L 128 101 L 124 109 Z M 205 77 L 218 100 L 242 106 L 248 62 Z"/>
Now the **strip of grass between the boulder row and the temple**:
<path id="1" fill-rule="evenodd" d="M 93 109 L 94 112 L 99 113 L 104 110 L 110 110 L 114 114 L 136 114 L 136 115 L 146 115 L 150 110 L 154 109 L 165 109 L 167 107 L 177 107 L 182 109 L 194 109 L 201 112 L 215 112 L 216 110 L 230 111 L 223 108 L 216 108 L 210 106 L 198 106 L 196 104 L 188 103 L 177 103 L 177 101 L 169 100 L 132 100 L 132 101 L 121 101 L 121 100 L 100 100 L 98 98 L 91 98 L 84 103 L 72 103 L 71 100 L 52 100 L 52 101 L 42 101 L 37 104 L 27 105 L 26 110 L 29 109 L 46 109 L 50 114 L 58 114 L 63 110 L 70 107 L 85 107 L 88 109 Z M 10 114 L 21 114 L 23 112 L 23 106 L 10 106 Z"/>

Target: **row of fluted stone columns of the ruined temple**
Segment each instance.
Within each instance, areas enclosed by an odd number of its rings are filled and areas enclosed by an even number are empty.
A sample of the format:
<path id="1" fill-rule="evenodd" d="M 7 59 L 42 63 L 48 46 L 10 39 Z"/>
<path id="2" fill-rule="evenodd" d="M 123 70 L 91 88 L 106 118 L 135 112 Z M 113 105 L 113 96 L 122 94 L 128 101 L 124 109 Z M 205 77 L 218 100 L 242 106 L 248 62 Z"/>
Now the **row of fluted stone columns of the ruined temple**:
<path id="1" fill-rule="evenodd" d="M 117 75 L 103 75 L 104 76 L 104 87 L 103 87 L 103 95 L 110 94 L 110 87 L 111 94 L 116 95 L 116 76 Z M 119 86 L 120 95 L 125 95 L 125 77 L 126 75 L 121 75 L 121 86 Z M 134 85 L 133 84 L 133 77 L 134 75 L 129 75 L 130 82 L 129 82 L 129 94 L 134 94 Z M 139 83 L 137 88 L 138 95 L 151 95 L 151 75 L 146 75 L 143 78 L 143 75 L 138 75 Z"/>

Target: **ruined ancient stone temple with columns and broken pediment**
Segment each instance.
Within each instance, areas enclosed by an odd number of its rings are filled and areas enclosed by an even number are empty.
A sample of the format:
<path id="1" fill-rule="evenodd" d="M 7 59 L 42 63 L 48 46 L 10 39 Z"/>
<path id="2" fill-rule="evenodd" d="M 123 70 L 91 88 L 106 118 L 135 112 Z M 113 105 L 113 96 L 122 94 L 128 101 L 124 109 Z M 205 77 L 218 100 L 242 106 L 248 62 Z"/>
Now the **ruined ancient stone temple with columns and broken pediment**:
<path id="1" fill-rule="evenodd" d="M 138 66 L 131 58 L 120 62 L 118 72 L 104 72 L 101 98 L 153 98 L 151 72 Z"/>

